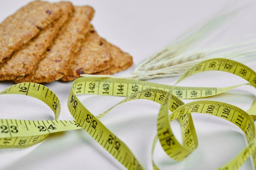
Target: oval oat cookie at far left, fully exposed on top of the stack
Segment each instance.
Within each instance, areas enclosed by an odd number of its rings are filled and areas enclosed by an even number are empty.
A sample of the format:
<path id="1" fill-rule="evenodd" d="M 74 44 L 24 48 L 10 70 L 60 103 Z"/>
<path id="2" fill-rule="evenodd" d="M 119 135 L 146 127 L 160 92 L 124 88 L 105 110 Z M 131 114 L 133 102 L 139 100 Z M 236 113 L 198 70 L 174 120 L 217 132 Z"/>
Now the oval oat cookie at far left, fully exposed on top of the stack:
<path id="1" fill-rule="evenodd" d="M 0 64 L 61 15 L 57 4 L 38 0 L 6 18 L 0 24 Z"/>

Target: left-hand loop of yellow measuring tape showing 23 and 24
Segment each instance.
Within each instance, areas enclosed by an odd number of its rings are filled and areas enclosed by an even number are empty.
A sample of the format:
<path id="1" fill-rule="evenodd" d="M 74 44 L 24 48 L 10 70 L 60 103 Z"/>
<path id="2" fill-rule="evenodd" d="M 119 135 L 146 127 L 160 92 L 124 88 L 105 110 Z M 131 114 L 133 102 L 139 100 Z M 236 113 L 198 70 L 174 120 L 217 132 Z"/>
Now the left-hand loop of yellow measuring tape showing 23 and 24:
<path id="1" fill-rule="evenodd" d="M 19 83 L 6 88 L 0 93 L 2 94 L 21 94 L 37 98 L 52 109 L 55 120 L 0 119 L 0 148 L 27 148 L 44 141 L 50 133 L 81 128 L 75 121 L 57 120 L 61 111 L 60 102 L 55 93 L 46 86 Z"/>

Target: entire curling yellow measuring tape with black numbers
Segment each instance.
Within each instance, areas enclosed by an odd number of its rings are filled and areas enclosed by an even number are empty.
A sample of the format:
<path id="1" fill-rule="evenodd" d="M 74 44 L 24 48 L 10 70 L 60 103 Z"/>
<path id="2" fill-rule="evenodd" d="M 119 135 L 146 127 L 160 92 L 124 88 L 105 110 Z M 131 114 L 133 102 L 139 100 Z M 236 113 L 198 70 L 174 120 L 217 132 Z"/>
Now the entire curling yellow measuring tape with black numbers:
<path id="1" fill-rule="evenodd" d="M 256 88 L 256 73 L 252 69 L 236 61 L 220 58 L 205 60 L 193 66 L 180 77 L 177 83 L 195 73 L 211 70 L 233 73 L 247 80 L 247 85 Z M 119 104 L 135 99 L 149 99 L 161 104 L 157 119 L 157 135 L 152 146 L 152 159 L 158 140 L 172 159 L 182 161 L 188 157 L 198 146 L 191 113 L 205 113 L 231 121 L 243 130 L 248 142 L 246 148 L 219 170 L 238 169 L 250 155 L 252 155 L 254 166 L 256 165 L 254 126 L 256 102 L 246 112 L 223 102 L 200 100 L 184 104 L 181 100 L 218 95 L 240 85 L 226 88 L 180 87 L 134 79 L 83 76 L 74 80 L 67 100 L 68 109 L 75 121 L 58 120 L 61 109 L 58 97 L 43 85 L 20 83 L 2 91 L 0 94 L 23 94 L 40 99 L 53 110 L 56 119 L 47 121 L 0 119 L 0 148 L 26 148 L 45 140 L 50 133 L 83 128 L 128 170 L 144 170 L 145 168 L 128 146 L 104 126 L 100 119 Z M 94 116 L 77 98 L 77 95 L 83 94 L 126 98 L 106 112 Z M 169 114 L 168 110 L 172 113 Z M 170 122 L 175 119 L 180 123 L 183 144 L 177 141 L 170 126 Z M 159 169 L 154 161 L 153 168 Z"/>

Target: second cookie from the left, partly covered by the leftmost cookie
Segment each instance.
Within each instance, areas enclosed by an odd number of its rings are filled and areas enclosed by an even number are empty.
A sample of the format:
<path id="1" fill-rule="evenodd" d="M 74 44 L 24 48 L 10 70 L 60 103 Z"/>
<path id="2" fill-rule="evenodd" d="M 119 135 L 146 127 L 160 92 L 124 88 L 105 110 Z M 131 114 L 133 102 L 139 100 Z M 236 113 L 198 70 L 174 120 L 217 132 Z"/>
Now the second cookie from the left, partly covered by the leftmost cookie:
<path id="1" fill-rule="evenodd" d="M 11 80 L 16 77 L 25 76 L 35 68 L 41 60 L 43 53 L 51 45 L 61 26 L 67 21 L 73 12 L 73 5 L 70 2 L 60 2 L 58 5 L 63 11 L 61 17 L 49 24 L 45 29 L 34 37 L 22 48 L 11 55 L 11 58 L 0 67 L 0 80 Z"/>

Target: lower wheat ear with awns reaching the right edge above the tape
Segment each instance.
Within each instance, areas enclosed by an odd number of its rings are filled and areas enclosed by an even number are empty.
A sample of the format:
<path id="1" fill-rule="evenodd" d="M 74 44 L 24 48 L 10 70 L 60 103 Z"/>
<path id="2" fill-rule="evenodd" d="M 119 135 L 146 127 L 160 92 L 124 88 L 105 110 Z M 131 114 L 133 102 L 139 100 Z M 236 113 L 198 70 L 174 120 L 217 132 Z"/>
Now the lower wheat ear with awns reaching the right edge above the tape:
<path id="1" fill-rule="evenodd" d="M 251 35 L 252 36 L 252 35 Z M 240 39 L 239 39 L 240 40 Z M 239 62 L 248 62 L 256 59 L 256 38 L 240 41 L 232 44 L 227 43 L 210 46 L 206 49 L 196 49 L 184 52 L 174 57 L 166 57 L 155 63 L 148 62 L 140 66 L 128 78 L 132 79 L 153 79 L 181 75 L 190 67 L 209 58 L 227 58 Z"/>

